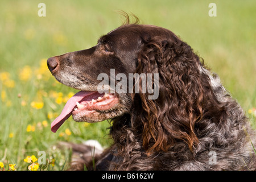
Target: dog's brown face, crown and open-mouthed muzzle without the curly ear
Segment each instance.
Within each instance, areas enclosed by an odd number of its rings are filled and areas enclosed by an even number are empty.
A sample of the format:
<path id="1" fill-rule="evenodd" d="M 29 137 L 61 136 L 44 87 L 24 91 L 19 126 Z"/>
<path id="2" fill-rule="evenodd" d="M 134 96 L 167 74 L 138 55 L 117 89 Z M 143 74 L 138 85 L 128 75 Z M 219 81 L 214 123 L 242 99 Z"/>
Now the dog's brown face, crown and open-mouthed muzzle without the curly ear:
<path id="1" fill-rule="evenodd" d="M 140 73 L 138 66 L 145 64 L 138 61 L 138 58 L 142 59 L 138 57 L 139 53 L 144 52 L 148 43 L 155 39 L 161 44 L 152 46 L 161 51 L 162 44 L 170 38 L 178 40 L 164 28 L 125 24 L 101 36 L 92 48 L 49 58 L 47 65 L 56 80 L 82 91 L 67 102 L 63 113 L 53 122 L 52 131 L 56 131 L 71 114 L 78 122 L 98 122 L 129 112 L 133 103 L 131 96 L 136 92 L 133 74 Z M 158 73 L 156 70 L 148 71 Z M 142 79 L 141 75 L 137 78 Z M 154 80 L 154 75 L 151 78 Z"/>

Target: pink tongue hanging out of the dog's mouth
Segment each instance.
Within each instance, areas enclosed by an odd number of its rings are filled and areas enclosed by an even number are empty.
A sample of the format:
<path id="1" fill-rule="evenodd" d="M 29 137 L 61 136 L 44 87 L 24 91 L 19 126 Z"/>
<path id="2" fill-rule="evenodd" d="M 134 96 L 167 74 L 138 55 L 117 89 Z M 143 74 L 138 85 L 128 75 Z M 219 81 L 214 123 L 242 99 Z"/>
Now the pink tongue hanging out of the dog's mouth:
<path id="1" fill-rule="evenodd" d="M 59 127 L 66 121 L 72 114 L 73 109 L 76 106 L 76 102 L 80 102 L 83 98 L 86 96 L 89 96 L 94 92 L 84 92 L 80 91 L 77 92 L 73 97 L 71 97 L 67 104 L 64 106 L 63 110 L 61 111 L 61 114 L 59 117 L 57 117 L 52 123 L 51 123 L 51 130 L 52 132 L 56 132 Z"/>

